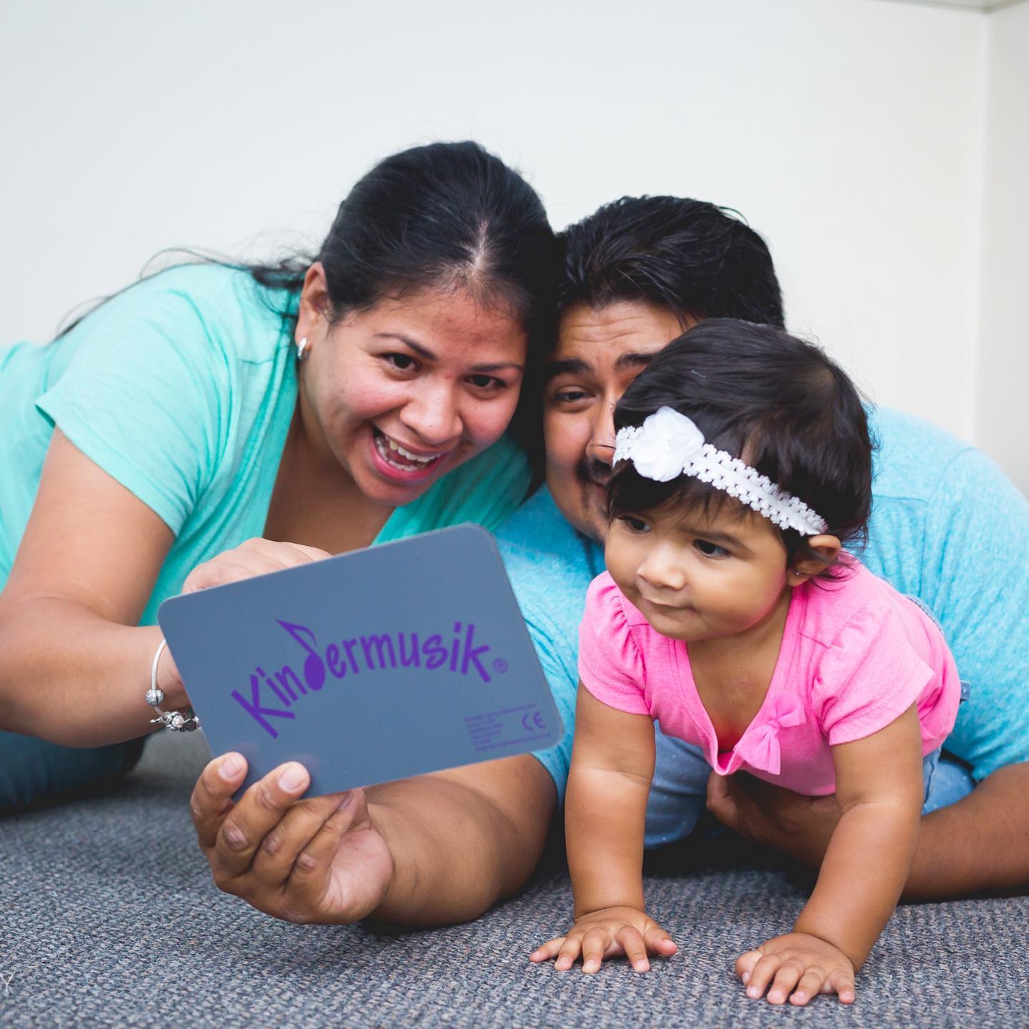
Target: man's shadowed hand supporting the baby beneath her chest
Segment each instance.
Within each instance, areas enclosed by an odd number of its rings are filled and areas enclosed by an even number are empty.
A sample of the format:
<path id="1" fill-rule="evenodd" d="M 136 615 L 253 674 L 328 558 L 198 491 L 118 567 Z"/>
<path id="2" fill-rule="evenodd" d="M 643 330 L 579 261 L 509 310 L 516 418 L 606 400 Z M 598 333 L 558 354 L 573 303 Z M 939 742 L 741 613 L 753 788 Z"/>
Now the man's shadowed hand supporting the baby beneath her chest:
<path id="1" fill-rule="evenodd" d="M 746 773 L 708 777 L 707 807 L 745 840 L 818 868 L 840 821 L 836 796 L 803 796 Z"/>

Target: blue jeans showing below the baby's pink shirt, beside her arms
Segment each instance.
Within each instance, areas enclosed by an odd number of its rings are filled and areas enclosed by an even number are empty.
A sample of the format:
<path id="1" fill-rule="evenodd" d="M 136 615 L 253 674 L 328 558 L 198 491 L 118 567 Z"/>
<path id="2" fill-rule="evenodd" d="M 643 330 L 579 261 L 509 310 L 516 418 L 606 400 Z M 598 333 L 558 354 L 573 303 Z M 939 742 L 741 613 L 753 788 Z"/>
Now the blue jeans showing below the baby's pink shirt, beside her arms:
<path id="1" fill-rule="evenodd" d="M 707 810 L 711 766 L 700 747 L 657 733 L 657 762 L 646 808 L 647 847 L 663 847 L 693 832 Z M 925 778 L 923 814 L 967 796 L 975 787 L 965 765 L 934 750 L 922 762 Z"/>

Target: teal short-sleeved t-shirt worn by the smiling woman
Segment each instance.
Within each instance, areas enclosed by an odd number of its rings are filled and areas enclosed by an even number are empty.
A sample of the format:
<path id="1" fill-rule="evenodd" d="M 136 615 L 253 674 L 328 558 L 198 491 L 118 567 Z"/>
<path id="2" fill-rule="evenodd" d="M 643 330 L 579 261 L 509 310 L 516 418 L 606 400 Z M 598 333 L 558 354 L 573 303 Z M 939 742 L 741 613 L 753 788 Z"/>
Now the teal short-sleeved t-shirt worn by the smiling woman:
<path id="1" fill-rule="evenodd" d="M 46 346 L 0 349 L 0 588 L 54 426 L 175 535 L 142 625 L 216 554 L 263 535 L 296 403 L 290 294 L 186 264 L 112 297 Z M 497 528 L 530 481 L 501 439 L 395 508 L 375 542 L 461 522 Z"/>

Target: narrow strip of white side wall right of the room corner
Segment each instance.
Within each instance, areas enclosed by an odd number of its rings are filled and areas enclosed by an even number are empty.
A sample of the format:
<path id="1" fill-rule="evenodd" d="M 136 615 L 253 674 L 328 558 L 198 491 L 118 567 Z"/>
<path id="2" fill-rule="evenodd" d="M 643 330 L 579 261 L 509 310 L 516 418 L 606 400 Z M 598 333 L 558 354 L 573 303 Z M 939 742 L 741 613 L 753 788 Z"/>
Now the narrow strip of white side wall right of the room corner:
<path id="1" fill-rule="evenodd" d="M 1029 4 L 989 21 L 977 441 L 1029 494 Z"/>

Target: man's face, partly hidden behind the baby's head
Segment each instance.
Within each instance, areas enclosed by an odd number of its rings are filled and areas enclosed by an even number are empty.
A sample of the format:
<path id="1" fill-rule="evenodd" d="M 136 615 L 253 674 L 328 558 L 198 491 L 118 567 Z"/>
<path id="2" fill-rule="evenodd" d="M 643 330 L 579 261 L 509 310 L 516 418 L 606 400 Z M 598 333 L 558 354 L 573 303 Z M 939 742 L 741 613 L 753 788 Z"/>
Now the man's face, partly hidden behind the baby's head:
<path id="1" fill-rule="evenodd" d="M 641 300 L 576 305 L 561 319 L 543 392 L 546 485 L 561 513 L 598 542 L 607 532 L 614 405 L 650 358 L 694 324 Z"/>

